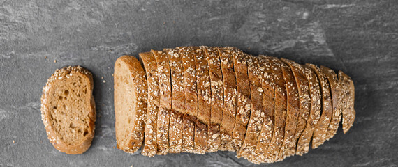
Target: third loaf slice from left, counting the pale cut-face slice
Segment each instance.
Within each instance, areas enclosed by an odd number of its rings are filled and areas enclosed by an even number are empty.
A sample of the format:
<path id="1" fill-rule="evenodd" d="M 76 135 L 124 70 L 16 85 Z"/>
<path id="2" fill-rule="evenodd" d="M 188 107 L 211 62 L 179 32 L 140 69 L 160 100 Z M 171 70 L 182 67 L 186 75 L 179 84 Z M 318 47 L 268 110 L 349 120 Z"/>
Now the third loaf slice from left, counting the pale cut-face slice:
<path id="1" fill-rule="evenodd" d="M 158 78 L 160 106 L 158 111 L 158 120 L 156 126 L 156 145 L 157 154 L 167 154 L 169 150 L 169 123 L 171 113 L 171 77 L 169 55 L 163 51 L 151 50 L 156 59 Z"/>

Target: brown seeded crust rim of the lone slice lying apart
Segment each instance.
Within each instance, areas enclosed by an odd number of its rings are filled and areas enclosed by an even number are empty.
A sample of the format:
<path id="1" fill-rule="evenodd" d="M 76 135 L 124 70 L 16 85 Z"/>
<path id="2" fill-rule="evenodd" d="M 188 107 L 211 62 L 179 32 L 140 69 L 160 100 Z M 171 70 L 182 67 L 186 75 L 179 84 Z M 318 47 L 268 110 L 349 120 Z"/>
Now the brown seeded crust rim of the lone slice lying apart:
<path id="1" fill-rule="evenodd" d="M 87 84 L 89 88 L 87 89 L 89 90 L 89 95 L 91 95 L 91 97 L 88 100 L 89 104 L 87 105 L 91 108 L 91 111 L 89 111 L 89 115 L 87 116 L 87 118 L 83 118 L 88 120 L 87 126 L 89 130 L 87 135 L 82 141 L 80 141 L 80 143 L 75 145 L 69 145 L 68 143 L 66 143 L 66 141 L 64 141 L 63 138 L 61 138 L 60 135 L 62 132 L 58 132 L 57 129 L 53 126 L 54 122 L 50 118 L 50 112 L 52 110 L 50 109 L 52 108 L 52 106 L 50 106 L 50 102 L 52 101 L 51 96 L 52 93 L 54 93 L 54 88 L 57 87 L 60 82 L 63 82 L 66 79 L 70 79 L 78 75 L 84 77 L 86 81 L 89 82 L 89 84 Z M 52 145 L 54 145 L 54 148 L 56 148 L 60 152 L 64 152 L 66 154 L 82 154 L 83 152 L 86 152 L 91 146 L 91 141 L 94 138 L 94 129 L 96 122 L 96 106 L 94 102 L 94 96 L 92 95 L 93 88 L 94 82 L 91 72 L 80 66 L 68 66 L 57 69 L 54 74 L 52 74 L 51 77 L 47 79 L 47 83 L 43 88 L 43 94 L 41 96 L 41 118 L 43 120 L 48 140 L 50 141 L 50 143 L 52 143 Z"/>

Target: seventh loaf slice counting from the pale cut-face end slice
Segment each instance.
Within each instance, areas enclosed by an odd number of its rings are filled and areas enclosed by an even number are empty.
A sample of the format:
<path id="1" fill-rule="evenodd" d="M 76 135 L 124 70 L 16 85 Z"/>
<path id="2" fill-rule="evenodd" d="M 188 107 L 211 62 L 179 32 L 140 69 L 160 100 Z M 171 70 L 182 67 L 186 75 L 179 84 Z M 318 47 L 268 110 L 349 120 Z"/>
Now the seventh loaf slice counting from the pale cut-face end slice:
<path id="1" fill-rule="evenodd" d="M 212 107 L 210 124 L 207 134 L 207 152 L 216 152 L 221 145 L 220 125 L 223 119 L 223 74 L 219 53 L 216 47 L 201 47 L 205 51 L 207 65 L 209 65 L 209 86 L 212 90 Z"/>

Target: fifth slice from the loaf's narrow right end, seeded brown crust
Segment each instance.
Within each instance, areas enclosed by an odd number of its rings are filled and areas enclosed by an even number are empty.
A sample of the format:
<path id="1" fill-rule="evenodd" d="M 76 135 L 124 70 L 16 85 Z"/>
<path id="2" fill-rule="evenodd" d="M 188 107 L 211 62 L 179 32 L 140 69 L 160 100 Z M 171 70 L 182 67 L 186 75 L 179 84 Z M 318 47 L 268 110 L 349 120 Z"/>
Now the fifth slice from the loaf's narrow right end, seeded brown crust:
<path id="1" fill-rule="evenodd" d="M 302 132 L 305 129 L 305 126 L 307 125 L 307 120 L 309 118 L 309 113 L 310 113 L 311 99 L 309 97 L 308 80 L 305 77 L 304 68 L 300 64 L 295 63 L 294 61 L 290 61 L 285 58 L 281 58 L 281 60 L 285 62 L 293 72 L 297 84 L 298 100 L 299 100 L 299 115 L 297 117 L 297 127 L 295 130 L 295 136 L 293 137 L 294 144 L 290 145 L 290 147 L 288 148 L 290 150 L 289 156 L 291 156 L 295 154 L 296 146 L 299 147 L 298 143 L 297 145 L 295 143 L 298 141 Z M 300 147 L 302 147 L 302 145 L 300 145 Z"/>

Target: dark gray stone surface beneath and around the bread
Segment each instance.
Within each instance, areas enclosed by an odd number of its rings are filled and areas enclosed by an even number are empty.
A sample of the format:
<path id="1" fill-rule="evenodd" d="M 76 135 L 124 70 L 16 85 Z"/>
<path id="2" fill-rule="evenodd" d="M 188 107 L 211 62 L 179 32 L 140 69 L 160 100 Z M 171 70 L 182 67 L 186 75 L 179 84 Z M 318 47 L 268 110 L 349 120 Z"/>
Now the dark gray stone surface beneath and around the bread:
<path id="1" fill-rule="evenodd" d="M 115 147 L 112 72 L 124 54 L 183 45 L 238 47 L 343 70 L 355 82 L 353 128 L 304 156 L 263 166 L 397 166 L 398 1 L 0 1 L 0 166 L 256 166 L 235 152 L 154 158 Z M 54 62 L 56 61 L 56 63 Z M 40 120 L 55 69 L 94 74 L 96 136 L 55 150 Z M 102 79 L 103 77 L 103 79 Z"/>

